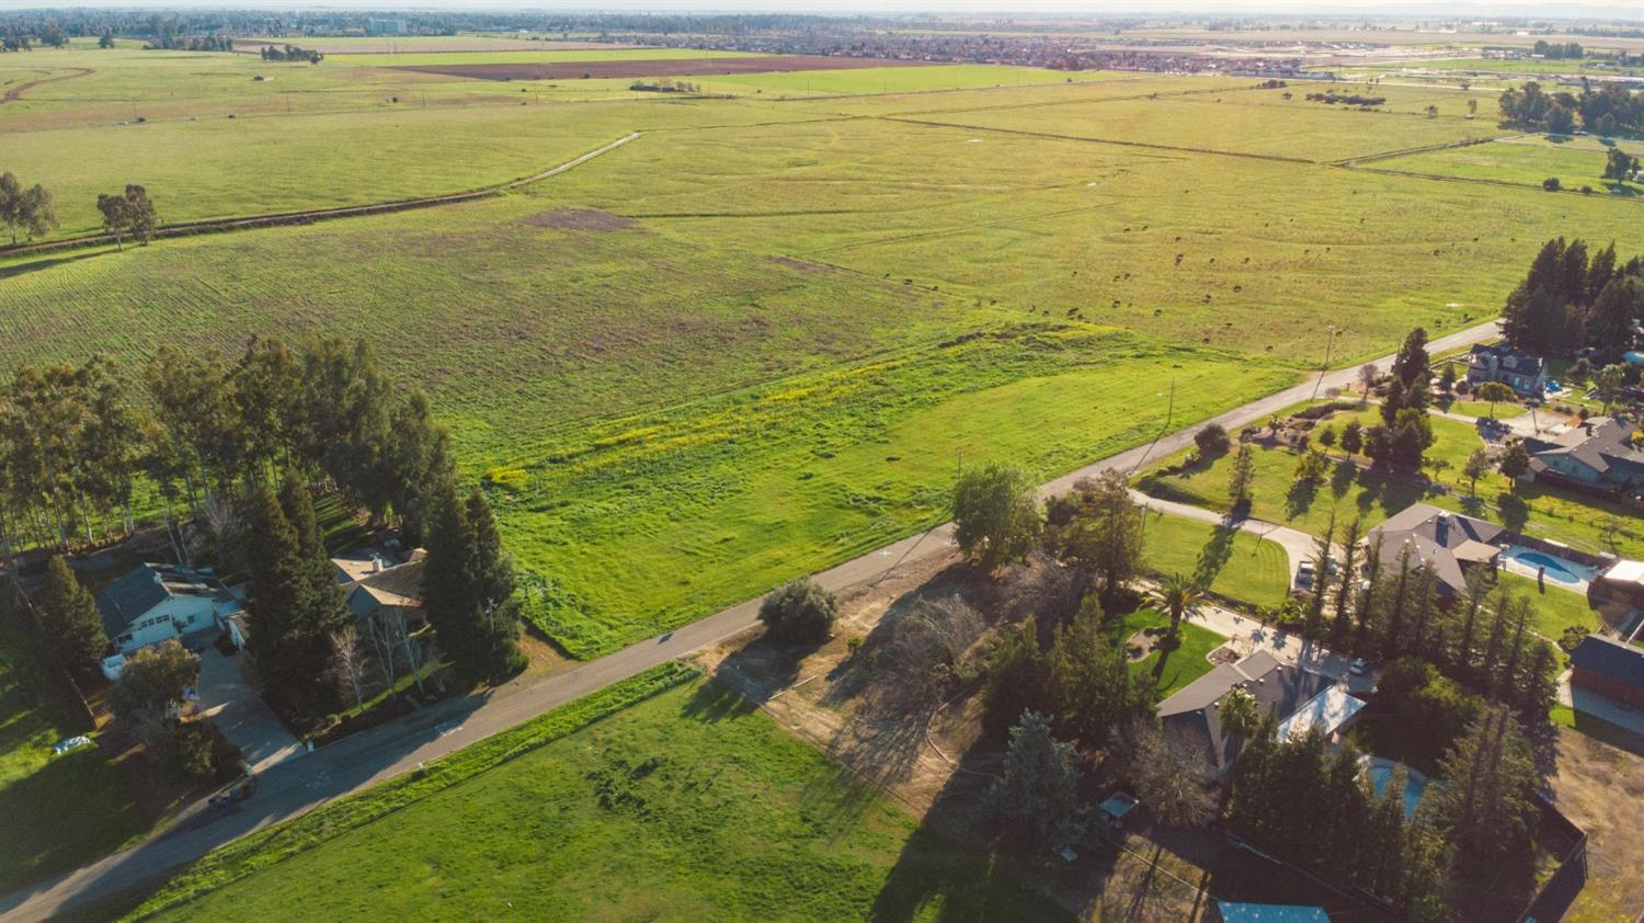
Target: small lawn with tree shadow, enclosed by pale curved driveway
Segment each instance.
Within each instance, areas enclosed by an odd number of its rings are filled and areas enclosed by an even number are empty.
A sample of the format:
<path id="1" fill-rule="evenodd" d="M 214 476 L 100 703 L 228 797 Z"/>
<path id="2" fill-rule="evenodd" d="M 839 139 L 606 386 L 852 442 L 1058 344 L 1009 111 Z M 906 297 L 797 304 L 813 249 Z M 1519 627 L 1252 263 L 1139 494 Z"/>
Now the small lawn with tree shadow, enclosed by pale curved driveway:
<path id="1" fill-rule="evenodd" d="M 1210 591 L 1253 605 L 1281 605 L 1291 589 L 1277 541 L 1167 513 L 1148 513 L 1143 558 L 1157 574 L 1210 574 Z"/>

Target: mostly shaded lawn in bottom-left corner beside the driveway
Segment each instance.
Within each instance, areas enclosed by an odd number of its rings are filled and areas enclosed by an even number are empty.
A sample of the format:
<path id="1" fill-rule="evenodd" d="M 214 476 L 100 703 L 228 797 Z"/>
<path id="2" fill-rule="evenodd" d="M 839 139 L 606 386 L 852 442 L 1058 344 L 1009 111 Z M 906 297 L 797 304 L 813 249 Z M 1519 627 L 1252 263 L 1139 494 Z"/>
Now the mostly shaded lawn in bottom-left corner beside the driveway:
<path id="1" fill-rule="evenodd" d="M 72 734 L 23 638 L 0 627 L 0 893 L 67 872 L 146 829 L 100 749 L 51 754 Z"/>

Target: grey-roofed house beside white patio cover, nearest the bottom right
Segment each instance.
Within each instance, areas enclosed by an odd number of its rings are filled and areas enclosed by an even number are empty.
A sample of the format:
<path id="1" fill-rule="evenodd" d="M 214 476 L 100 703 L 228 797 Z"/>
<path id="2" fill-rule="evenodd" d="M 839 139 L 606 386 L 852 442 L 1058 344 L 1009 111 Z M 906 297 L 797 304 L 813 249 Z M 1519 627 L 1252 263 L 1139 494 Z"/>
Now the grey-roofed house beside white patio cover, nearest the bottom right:
<path id="1" fill-rule="evenodd" d="M 1233 689 L 1245 689 L 1259 706 L 1289 719 L 1333 679 L 1279 663 L 1268 652 L 1256 652 L 1238 663 L 1221 663 L 1159 703 L 1166 734 L 1180 735 L 1200 747 L 1212 778 L 1221 778 L 1238 757 L 1245 739 L 1221 727 L 1221 701 Z M 1356 709 L 1355 709 L 1356 711 Z"/>

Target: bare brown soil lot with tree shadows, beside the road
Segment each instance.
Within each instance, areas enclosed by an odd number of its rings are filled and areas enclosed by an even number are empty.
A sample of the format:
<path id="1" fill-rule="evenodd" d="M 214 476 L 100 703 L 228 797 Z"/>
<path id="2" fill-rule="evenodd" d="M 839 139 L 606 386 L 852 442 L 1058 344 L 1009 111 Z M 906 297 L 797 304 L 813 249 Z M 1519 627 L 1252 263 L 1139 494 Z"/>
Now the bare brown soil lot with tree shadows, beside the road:
<path id="1" fill-rule="evenodd" d="M 1004 624 L 1019 620 L 1059 591 L 1055 577 L 1029 576 L 1013 592 L 1000 594 L 993 586 L 978 587 L 957 554 L 944 554 L 842 594 L 834 637 L 814 650 L 773 643 L 751 630 L 694 660 L 792 734 L 896 798 L 926 826 L 986 849 L 977 805 L 1001 754 L 981 740 L 977 683 L 945 703 L 911 696 L 903 638 L 911 624 L 931 620 L 932 607 L 958 624 L 968 612 L 991 612 Z M 973 633 L 955 635 L 955 647 L 977 655 L 991 630 L 978 617 Z M 1190 882 L 1200 880 L 1200 869 L 1169 851 L 1154 867 L 1151 844 L 1143 839 L 1133 839 L 1131 849 L 1108 857 L 1082 847 L 1080 857 L 1065 865 L 1000 860 L 1080 920 L 1192 920 L 1197 888 Z"/>

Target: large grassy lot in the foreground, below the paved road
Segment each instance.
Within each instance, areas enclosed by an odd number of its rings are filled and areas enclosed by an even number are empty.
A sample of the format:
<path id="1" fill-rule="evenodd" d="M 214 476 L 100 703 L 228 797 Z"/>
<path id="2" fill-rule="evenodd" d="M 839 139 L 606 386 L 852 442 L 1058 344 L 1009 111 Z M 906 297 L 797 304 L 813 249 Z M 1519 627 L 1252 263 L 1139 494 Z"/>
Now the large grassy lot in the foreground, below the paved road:
<path id="1" fill-rule="evenodd" d="M 559 717 L 577 707 L 536 719 L 559 724 L 536 749 L 289 856 L 278 828 L 229 847 L 202 865 L 225 887 L 161 918 L 1064 918 L 722 686 Z"/>

